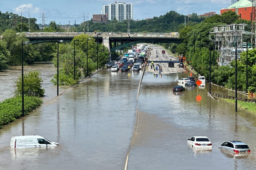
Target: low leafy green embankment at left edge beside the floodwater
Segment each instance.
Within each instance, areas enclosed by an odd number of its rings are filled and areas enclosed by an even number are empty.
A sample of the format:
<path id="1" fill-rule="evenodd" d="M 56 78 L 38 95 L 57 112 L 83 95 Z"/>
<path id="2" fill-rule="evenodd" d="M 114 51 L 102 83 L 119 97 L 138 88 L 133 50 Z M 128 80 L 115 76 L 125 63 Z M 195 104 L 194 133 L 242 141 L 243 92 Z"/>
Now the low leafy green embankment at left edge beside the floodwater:
<path id="1" fill-rule="evenodd" d="M 24 96 L 24 114 L 28 114 L 32 109 L 42 104 L 42 100 L 38 97 Z M 22 116 L 22 98 L 12 97 L 5 99 L 0 103 L 0 129 L 3 125 L 15 121 Z"/>

